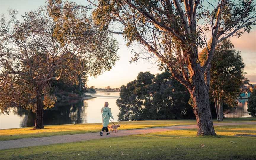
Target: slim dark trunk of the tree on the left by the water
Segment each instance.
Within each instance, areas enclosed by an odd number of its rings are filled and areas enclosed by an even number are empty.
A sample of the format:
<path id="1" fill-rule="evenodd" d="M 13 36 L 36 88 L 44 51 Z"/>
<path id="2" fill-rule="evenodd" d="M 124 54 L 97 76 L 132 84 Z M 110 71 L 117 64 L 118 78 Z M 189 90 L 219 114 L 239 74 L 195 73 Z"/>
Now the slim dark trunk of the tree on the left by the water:
<path id="1" fill-rule="evenodd" d="M 36 87 L 36 123 L 34 129 L 44 129 L 42 88 Z"/>

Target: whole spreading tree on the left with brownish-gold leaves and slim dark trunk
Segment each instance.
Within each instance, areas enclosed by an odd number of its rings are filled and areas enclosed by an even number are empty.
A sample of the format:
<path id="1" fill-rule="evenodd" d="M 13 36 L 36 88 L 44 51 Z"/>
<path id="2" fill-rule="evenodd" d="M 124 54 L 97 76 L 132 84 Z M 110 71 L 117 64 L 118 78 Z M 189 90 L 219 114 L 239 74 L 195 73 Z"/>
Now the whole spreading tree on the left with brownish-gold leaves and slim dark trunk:
<path id="1" fill-rule="evenodd" d="M 0 110 L 32 109 L 35 129 L 41 129 L 43 109 L 56 101 L 49 95 L 49 82 L 63 77 L 75 81 L 84 71 L 96 76 L 109 70 L 118 59 L 118 45 L 107 32 L 98 32 L 86 10 L 69 12 L 68 19 L 60 21 L 44 7 L 22 19 L 15 11 L 9 14 L 9 20 L 0 19 Z"/>

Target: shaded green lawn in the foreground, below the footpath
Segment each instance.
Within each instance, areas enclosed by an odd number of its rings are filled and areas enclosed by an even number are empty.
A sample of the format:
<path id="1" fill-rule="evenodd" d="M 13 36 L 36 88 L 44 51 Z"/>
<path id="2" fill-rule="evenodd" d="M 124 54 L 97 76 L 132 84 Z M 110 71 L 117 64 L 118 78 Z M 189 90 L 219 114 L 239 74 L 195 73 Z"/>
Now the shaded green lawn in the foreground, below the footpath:
<path id="1" fill-rule="evenodd" d="M 1 159 L 256 159 L 256 125 L 215 127 L 218 136 L 177 130 L 0 151 Z"/>

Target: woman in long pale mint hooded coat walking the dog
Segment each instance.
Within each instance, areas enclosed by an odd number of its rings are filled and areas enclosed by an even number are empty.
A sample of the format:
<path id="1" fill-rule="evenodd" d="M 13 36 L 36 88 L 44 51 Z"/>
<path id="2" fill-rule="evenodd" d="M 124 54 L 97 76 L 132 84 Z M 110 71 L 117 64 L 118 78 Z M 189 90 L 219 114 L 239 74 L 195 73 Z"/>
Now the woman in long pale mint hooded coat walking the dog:
<path id="1" fill-rule="evenodd" d="M 114 118 L 112 116 L 110 108 L 108 107 L 108 102 L 105 102 L 104 107 L 101 108 L 101 115 L 102 115 L 103 128 L 100 131 L 100 136 L 103 136 L 104 130 L 106 130 L 107 135 L 109 135 L 109 132 L 108 132 L 109 119 L 111 117 L 114 120 Z"/>

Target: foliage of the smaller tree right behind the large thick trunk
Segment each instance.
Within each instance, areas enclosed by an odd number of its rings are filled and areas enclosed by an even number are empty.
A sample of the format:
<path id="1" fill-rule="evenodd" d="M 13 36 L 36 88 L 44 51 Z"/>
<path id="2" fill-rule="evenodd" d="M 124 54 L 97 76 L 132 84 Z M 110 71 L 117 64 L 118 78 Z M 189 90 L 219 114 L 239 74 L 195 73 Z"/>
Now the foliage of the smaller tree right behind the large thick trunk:
<path id="1" fill-rule="evenodd" d="M 201 65 L 206 61 L 207 50 L 199 54 Z M 211 62 L 211 98 L 216 98 L 229 106 L 236 105 L 239 88 L 243 84 L 245 64 L 241 53 L 234 49 L 229 39 L 223 40 L 215 48 Z"/>

